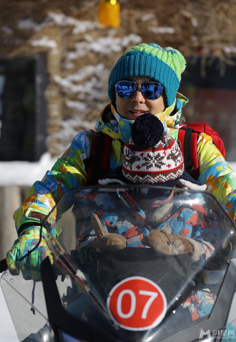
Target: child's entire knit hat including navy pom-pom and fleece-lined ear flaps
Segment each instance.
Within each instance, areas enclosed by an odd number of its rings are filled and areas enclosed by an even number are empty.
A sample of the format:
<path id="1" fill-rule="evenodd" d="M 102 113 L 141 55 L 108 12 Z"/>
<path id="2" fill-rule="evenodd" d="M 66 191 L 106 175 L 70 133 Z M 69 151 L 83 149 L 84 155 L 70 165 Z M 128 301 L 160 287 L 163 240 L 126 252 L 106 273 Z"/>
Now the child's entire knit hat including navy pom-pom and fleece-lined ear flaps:
<path id="1" fill-rule="evenodd" d="M 99 180 L 99 184 L 158 185 L 148 189 L 150 198 L 168 197 L 163 187 L 205 190 L 206 185 L 195 181 L 184 171 L 184 160 L 178 143 L 165 131 L 161 121 L 152 113 L 137 117 L 131 127 L 131 138 L 124 146 L 123 165 Z M 145 193 L 145 192 L 144 192 Z M 144 198 L 144 197 L 143 197 Z"/>

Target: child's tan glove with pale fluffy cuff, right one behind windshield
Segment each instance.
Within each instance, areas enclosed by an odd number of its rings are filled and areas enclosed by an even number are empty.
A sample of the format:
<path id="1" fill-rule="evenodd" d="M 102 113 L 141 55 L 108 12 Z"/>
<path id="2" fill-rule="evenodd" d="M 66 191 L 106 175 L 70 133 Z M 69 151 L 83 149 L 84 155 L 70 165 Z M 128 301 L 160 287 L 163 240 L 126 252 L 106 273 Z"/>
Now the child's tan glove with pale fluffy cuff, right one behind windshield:
<path id="1" fill-rule="evenodd" d="M 176 236 L 169 229 L 153 229 L 142 239 L 142 244 L 168 255 L 191 254 L 192 261 L 198 261 L 202 255 L 201 244 L 194 239 Z"/>

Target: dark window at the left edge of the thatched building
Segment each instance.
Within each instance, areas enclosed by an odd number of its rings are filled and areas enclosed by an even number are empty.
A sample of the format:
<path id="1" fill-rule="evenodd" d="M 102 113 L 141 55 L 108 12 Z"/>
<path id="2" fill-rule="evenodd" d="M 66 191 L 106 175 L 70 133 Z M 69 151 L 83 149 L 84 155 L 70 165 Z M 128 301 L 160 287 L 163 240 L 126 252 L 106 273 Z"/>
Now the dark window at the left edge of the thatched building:
<path id="1" fill-rule="evenodd" d="M 0 59 L 0 160 L 37 161 L 47 150 L 46 54 Z"/>

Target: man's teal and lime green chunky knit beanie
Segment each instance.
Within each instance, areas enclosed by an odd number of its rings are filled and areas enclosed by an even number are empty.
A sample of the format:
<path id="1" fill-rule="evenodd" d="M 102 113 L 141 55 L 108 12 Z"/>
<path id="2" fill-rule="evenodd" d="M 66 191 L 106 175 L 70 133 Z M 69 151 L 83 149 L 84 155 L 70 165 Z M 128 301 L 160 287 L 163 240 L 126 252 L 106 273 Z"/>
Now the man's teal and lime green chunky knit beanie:
<path id="1" fill-rule="evenodd" d="M 114 85 L 117 82 L 130 77 L 150 77 L 164 88 L 166 105 L 169 107 L 174 103 L 185 66 L 184 56 L 178 50 L 162 49 L 153 43 L 136 45 L 123 53 L 110 73 L 110 101 L 115 102 Z"/>

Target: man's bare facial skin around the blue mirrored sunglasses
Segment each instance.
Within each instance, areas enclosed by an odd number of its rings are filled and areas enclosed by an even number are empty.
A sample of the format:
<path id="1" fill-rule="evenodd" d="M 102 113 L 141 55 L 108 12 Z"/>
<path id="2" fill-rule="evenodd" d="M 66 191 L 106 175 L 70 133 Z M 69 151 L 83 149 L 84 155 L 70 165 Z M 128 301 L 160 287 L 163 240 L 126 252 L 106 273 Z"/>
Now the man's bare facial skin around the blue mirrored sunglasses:
<path id="1" fill-rule="evenodd" d="M 138 83 L 138 86 L 140 86 L 140 83 L 142 82 L 154 82 L 154 80 L 149 77 L 131 77 L 128 78 L 127 81 L 136 82 Z M 116 94 L 115 104 L 117 112 L 122 118 L 127 120 L 135 120 L 144 113 L 157 114 L 166 108 L 163 91 L 157 100 L 148 100 L 143 96 L 139 87 L 137 87 L 134 94 L 129 98 L 121 98 Z"/>

